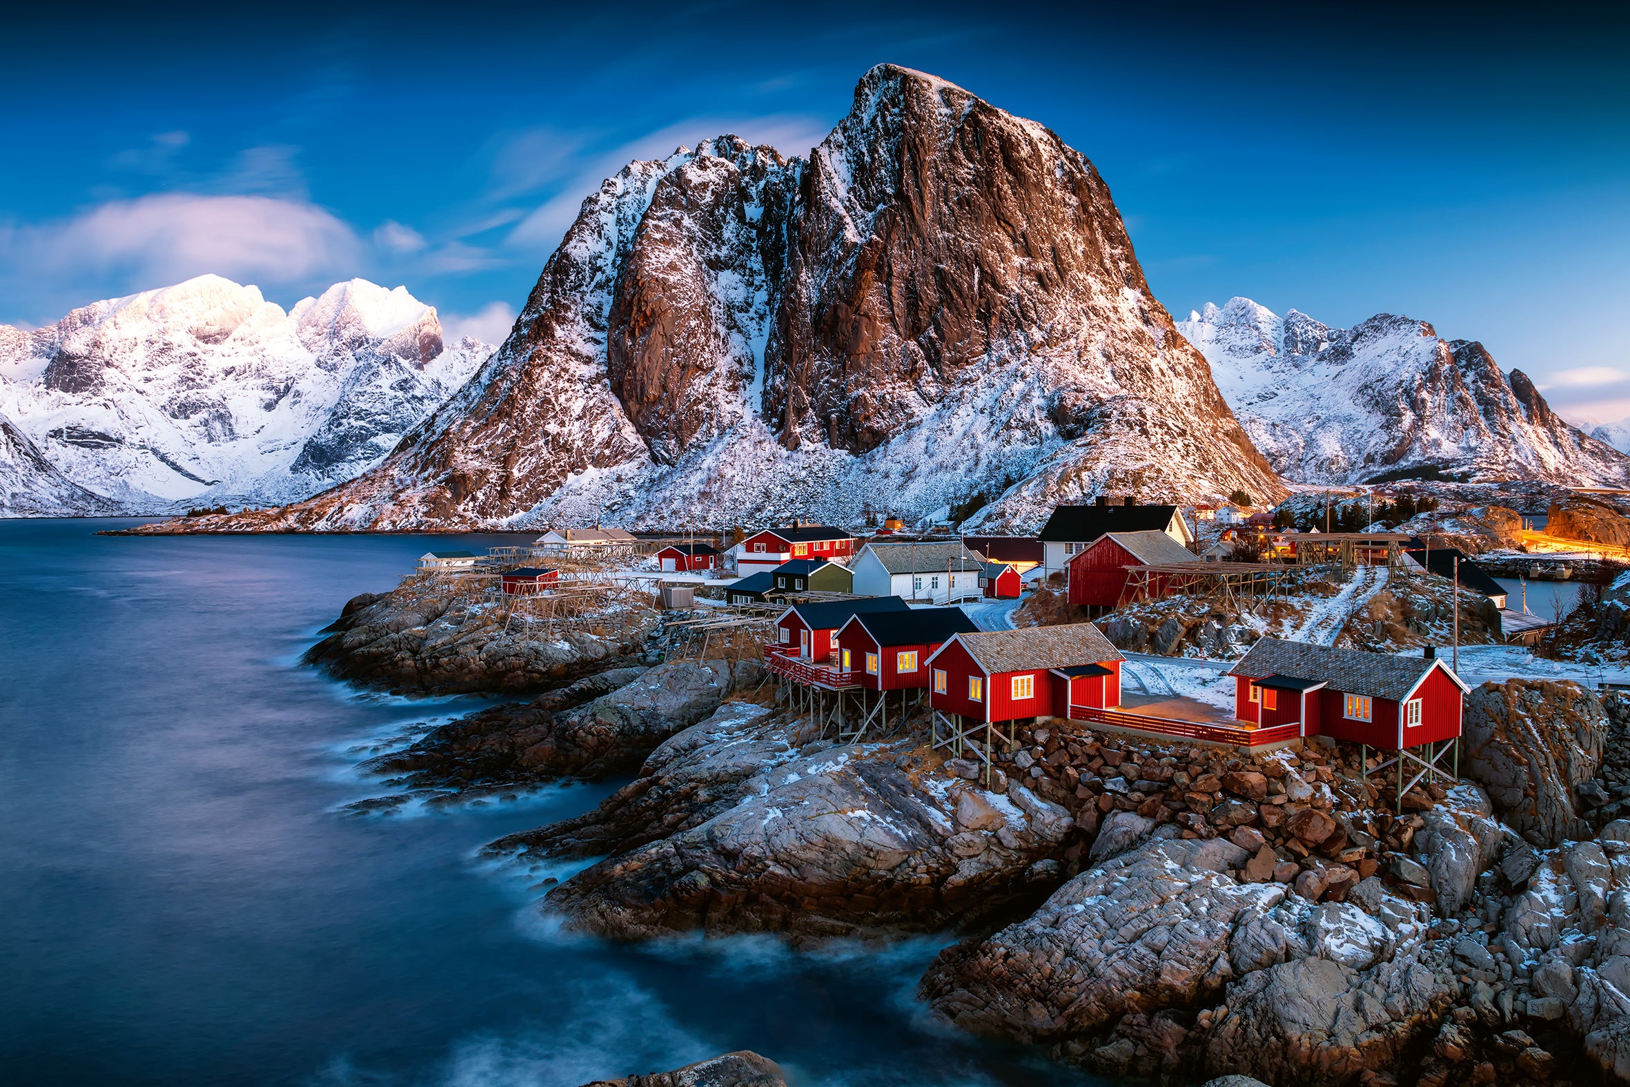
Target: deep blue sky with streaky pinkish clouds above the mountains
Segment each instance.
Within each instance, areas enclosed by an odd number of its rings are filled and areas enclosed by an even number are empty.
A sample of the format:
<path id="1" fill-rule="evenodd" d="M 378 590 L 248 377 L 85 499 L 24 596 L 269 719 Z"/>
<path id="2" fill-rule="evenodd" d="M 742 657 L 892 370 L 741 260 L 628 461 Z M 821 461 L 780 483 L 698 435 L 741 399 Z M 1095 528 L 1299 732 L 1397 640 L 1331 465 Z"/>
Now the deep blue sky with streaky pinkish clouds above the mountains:
<path id="1" fill-rule="evenodd" d="M 1092 158 L 1178 318 L 1407 313 L 1576 417 L 1630 416 L 1627 16 L 1416 7 L 13 18 L 0 321 L 210 271 L 282 305 L 406 284 L 499 336 L 603 176 L 720 132 L 805 153 L 892 60 Z"/>

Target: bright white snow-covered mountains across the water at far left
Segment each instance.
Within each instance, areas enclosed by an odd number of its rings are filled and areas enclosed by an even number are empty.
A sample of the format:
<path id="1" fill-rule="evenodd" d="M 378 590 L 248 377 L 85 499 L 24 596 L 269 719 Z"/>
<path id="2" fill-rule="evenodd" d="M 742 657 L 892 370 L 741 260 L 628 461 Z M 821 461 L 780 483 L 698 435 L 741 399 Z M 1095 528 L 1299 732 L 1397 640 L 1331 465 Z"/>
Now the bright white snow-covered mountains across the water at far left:
<path id="1" fill-rule="evenodd" d="M 354 279 L 285 313 L 200 275 L 0 326 L 0 412 L 119 512 L 277 504 L 377 464 L 491 354 L 443 344 L 403 287 Z"/>

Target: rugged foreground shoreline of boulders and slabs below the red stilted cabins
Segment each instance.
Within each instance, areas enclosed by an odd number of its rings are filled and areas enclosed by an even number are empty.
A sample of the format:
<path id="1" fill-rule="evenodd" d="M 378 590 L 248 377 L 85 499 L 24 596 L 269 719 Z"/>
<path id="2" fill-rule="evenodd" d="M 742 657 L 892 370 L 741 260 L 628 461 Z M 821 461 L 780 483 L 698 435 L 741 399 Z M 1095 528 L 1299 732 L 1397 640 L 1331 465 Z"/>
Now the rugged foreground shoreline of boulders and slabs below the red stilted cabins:
<path id="1" fill-rule="evenodd" d="M 1097 1074 L 1630 1080 L 1623 696 L 1478 688 L 1464 777 L 1399 812 L 1320 743 L 1247 758 L 1051 720 L 986 779 L 921 732 L 822 737 L 756 663 L 629 649 L 368 769 L 453 794 L 634 772 L 487 854 L 597 859 L 540 909 L 616 940 L 960 935 L 919 983 L 932 1014 Z"/>

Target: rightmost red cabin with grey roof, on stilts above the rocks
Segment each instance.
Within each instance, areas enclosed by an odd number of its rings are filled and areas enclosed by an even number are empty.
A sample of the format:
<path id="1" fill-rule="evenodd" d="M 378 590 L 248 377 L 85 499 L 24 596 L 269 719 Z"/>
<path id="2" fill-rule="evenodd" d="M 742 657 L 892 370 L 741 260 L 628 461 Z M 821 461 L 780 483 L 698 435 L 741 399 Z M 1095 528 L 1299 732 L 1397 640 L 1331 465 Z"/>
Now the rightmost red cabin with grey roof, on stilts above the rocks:
<path id="1" fill-rule="evenodd" d="M 1470 689 L 1431 649 L 1392 657 L 1265 637 L 1229 670 L 1234 715 L 1257 727 L 1301 725 L 1330 737 L 1402 751 L 1460 735 L 1460 698 Z"/>

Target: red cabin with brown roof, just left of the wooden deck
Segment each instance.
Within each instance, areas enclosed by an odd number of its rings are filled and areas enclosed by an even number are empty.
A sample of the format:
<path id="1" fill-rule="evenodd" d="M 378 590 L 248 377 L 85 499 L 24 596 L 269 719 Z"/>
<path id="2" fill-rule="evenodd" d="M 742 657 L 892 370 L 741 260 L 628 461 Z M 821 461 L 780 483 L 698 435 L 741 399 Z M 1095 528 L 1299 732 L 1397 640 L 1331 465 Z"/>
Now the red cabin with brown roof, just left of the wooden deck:
<path id="1" fill-rule="evenodd" d="M 929 657 L 929 701 L 975 722 L 1068 717 L 1073 704 L 1120 704 L 1121 660 L 1090 623 L 955 634 Z"/>

